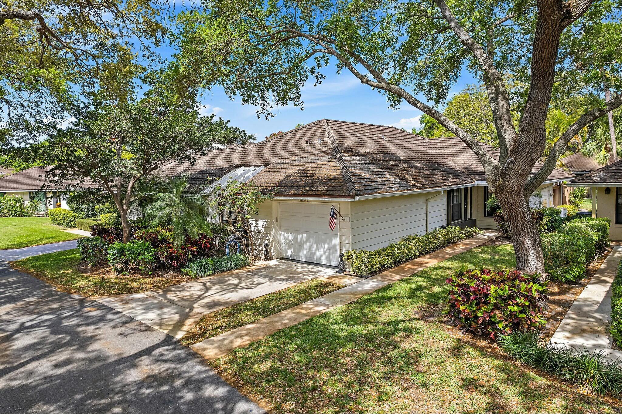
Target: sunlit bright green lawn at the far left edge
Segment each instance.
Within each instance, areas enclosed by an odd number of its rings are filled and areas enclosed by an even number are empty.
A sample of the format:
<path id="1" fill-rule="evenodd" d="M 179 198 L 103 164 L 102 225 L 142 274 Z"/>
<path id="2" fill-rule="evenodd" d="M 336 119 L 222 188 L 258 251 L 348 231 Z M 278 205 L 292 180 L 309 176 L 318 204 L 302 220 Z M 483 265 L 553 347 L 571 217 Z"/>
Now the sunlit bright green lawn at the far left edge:
<path id="1" fill-rule="evenodd" d="M 0 217 L 0 250 L 81 238 L 50 224 L 48 217 Z"/>

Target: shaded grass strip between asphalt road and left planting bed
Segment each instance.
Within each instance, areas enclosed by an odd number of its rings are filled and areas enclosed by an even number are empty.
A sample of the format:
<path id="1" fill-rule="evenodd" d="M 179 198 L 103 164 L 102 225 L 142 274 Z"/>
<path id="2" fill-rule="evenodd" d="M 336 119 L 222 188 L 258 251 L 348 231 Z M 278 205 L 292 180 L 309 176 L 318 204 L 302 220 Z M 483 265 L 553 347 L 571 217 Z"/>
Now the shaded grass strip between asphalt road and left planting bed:
<path id="1" fill-rule="evenodd" d="M 11 263 L 16 269 L 32 274 L 63 292 L 85 296 L 107 296 L 147 290 L 193 280 L 176 271 L 154 272 L 151 276 L 121 276 L 108 266 L 90 268 L 80 261 L 78 249 L 40 254 Z"/>

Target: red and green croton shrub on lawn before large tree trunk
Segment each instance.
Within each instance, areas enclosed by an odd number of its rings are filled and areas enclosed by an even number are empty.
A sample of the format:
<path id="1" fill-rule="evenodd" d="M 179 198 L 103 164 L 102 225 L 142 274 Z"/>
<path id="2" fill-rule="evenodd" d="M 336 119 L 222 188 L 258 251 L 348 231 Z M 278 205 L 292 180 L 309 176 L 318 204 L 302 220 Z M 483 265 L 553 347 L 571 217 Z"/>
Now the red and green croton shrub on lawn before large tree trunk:
<path id="1" fill-rule="evenodd" d="M 547 282 L 517 270 L 463 268 L 447 279 L 449 315 L 464 333 L 489 335 L 536 330 L 545 324 Z"/>

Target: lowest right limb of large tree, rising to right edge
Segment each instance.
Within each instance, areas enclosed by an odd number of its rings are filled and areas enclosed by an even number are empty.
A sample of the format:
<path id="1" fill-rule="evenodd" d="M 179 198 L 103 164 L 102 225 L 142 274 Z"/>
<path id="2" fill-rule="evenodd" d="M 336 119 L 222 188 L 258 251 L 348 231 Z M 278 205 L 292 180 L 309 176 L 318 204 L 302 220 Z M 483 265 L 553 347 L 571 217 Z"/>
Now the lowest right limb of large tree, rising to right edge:
<path id="1" fill-rule="evenodd" d="M 547 159 L 544 161 L 544 164 L 542 164 L 539 171 L 534 174 L 529 181 L 527 181 L 527 184 L 525 184 L 525 194 L 532 194 L 532 192 L 536 191 L 537 187 L 539 187 L 550 175 L 550 173 L 553 172 L 555 164 L 557 164 L 557 160 L 566 150 L 566 146 L 570 140 L 572 140 L 572 137 L 577 135 L 577 133 L 590 124 L 590 122 L 595 121 L 596 119 L 606 115 L 607 112 L 610 112 L 620 106 L 622 106 L 622 94 L 618 94 L 613 97 L 611 101 L 606 103 L 604 108 L 588 110 L 585 114 L 581 115 L 574 124 L 570 125 L 570 127 L 562 133 L 557 142 L 555 142 L 555 145 L 550 150 L 549 156 L 547 156 Z"/>

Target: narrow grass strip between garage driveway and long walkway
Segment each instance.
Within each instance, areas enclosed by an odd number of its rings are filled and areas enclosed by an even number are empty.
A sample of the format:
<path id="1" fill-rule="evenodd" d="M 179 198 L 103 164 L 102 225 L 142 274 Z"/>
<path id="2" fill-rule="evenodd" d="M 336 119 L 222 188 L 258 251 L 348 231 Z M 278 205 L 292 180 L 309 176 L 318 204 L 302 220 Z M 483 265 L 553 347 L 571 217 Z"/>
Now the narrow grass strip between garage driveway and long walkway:
<path id="1" fill-rule="evenodd" d="M 203 316 L 195 323 L 192 329 L 182 337 L 181 342 L 190 346 L 238 328 L 238 326 L 256 322 L 261 318 L 274 315 L 274 313 L 303 304 L 308 300 L 333 292 L 333 290 L 341 289 L 341 287 L 343 286 L 313 279 L 241 304 L 216 310 L 216 312 Z"/>

